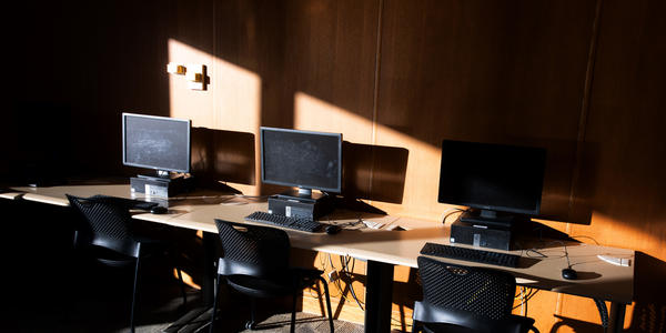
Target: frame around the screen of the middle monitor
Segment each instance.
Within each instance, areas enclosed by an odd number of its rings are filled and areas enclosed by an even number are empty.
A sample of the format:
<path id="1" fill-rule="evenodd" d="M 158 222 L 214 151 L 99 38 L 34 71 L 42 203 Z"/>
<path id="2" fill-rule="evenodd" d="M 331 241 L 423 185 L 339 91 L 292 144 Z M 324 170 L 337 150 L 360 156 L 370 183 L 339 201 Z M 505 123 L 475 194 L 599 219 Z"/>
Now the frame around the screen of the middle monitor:
<path id="1" fill-rule="evenodd" d="M 264 132 L 273 131 L 273 132 L 290 132 L 290 133 L 300 133 L 300 134 L 311 134 L 311 135 L 320 135 L 320 137 L 334 137 L 337 138 L 337 188 L 323 188 L 323 186 L 312 186 L 309 184 L 296 184 L 290 182 L 281 182 L 274 180 L 268 180 L 265 178 L 265 165 L 264 165 Z M 307 131 L 307 130 L 294 130 L 294 129 L 281 129 L 281 128 L 270 128 L 270 127 L 261 127 L 259 130 L 260 134 L 260 163 L 261 163 L 261 181 L 266 184 L 273 185 L 283 185 L 291 188 L 300 188 L 300 189 L 311 189 L 319 190 L 322 192 L 332 192 L 332 193 L 341 193 L 342 192 L 342 133 L 330 133 L 330 132 L 317 132 L 317 131 Z"/>

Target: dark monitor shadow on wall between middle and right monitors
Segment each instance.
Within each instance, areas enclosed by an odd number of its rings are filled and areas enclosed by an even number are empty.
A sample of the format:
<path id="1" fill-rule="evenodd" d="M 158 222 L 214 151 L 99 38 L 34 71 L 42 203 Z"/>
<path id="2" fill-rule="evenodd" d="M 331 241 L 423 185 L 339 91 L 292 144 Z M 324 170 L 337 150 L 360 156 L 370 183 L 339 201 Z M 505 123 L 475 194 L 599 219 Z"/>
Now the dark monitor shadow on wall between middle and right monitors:
<path id="1" fill-rule="evenodd" d="M 402 203 L 408 150 L 347 141 L 342 149 L 343 194 L 346 199 Z"/>

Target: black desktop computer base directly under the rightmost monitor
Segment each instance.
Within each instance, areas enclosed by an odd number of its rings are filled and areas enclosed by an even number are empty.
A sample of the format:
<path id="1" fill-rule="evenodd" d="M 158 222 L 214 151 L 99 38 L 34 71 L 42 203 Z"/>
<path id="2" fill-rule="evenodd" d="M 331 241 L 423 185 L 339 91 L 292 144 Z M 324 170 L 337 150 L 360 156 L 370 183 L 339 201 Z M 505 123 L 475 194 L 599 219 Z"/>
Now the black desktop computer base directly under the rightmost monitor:
<path id="1" fill-rule="evenodd" d="M 512 228 L 457 220 L 451 224 L 448 241 L 452 244 L 467 244 L 508 251 L 512 248 Z"/>

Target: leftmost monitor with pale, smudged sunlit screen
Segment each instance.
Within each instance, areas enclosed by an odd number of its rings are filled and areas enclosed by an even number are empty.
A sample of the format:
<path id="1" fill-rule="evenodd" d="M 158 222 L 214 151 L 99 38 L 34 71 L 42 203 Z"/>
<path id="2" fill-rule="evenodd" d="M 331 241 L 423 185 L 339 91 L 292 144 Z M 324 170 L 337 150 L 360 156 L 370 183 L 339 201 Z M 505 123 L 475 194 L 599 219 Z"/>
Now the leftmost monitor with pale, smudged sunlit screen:
<path id="1" fill-rule="evenodd" d="M 123 164 L 190 172 L 190 120 L 123 113 Z"/>

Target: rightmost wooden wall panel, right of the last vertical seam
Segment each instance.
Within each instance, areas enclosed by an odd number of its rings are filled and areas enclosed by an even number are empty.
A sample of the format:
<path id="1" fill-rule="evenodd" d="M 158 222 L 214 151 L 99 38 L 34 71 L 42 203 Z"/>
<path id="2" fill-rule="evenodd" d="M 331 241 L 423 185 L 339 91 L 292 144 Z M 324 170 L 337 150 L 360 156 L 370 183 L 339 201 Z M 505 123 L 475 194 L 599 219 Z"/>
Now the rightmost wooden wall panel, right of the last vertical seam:
<path id="1" fill-rule="evenodd" d="M 636 266 L 635 307 L 627 310 L 630 330 L 648 331 L 664 325 L 663 281 L 666 278 L 666 6 L 659 1 L 623 3 L 605 1 L 594 70 L 585 152 L 575 210 L 591 210 L 592 224 L 572 225 L 571 234 L 597 242 L 643 251 L 649 273 Z M 637 264 L 639 264 L 637 262 Z M 660 268 L 660 269 L 659 269 Z M 646 279 L 653 275 L 652 279 Z M 647 280 L 647 281 L 644 281 Z M 647 312 L 653 311 L 647 310 Z M 637 312 L 634 312 L 637 311 Z"/>

